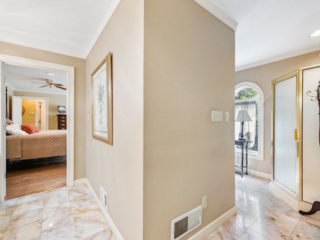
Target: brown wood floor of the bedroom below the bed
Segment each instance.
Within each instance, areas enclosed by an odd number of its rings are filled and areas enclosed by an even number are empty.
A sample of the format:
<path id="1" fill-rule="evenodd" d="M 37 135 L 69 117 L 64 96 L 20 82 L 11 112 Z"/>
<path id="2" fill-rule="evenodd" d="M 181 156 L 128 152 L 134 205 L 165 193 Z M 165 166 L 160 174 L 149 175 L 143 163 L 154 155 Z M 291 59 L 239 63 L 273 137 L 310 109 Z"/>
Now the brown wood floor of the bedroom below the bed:
<path id="1" fill-rule="evenodd" d="M 66 156 L 7 162 L 5 200 L 66 186 Z"/>

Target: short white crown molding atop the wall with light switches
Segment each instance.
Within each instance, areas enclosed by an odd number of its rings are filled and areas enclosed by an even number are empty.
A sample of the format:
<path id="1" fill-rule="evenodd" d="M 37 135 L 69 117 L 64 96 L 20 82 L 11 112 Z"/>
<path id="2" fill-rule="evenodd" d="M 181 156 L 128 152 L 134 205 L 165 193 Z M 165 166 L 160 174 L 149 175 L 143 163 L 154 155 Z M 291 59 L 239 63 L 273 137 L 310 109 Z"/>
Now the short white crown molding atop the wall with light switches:
<path id="1" fill-rule="evenodd" d="M 214 15 L 216 18 L 218 18 L 220 21 L 222 21 L 225 25 L 230 27 L 232 30 L 236 31 L 238 23 L 231 17 L 229 17 L 227 14 L 225 14 L 223 11 L 221 11 L 219 8 L 217 8 L 210 0 L 194 1 L 198 3 L 200 6 L 202 6 L 205 10 L 210 12 L 212 15 Z"/>

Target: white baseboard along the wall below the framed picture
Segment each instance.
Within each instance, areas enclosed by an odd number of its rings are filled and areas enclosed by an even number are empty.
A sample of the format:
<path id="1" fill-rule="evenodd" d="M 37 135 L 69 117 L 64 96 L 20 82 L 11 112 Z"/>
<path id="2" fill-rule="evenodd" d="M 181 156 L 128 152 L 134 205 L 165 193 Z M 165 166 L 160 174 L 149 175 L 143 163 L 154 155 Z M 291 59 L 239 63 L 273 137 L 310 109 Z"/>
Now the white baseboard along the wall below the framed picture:
<path id="1" fill-rule="evenodd" d="M 117 240 L 124 240 L 123 237 L 121 236 L 119 230 L 116 228 L 114 222 L 112 221 L 110 215 L 108 214 L 107 210 L 105 209 L 105 207 L 101 203 L 99 197 L 97 197 L 97 195 L 95 194 L 95 192 L 94 192 L 92 186 L 90 185 L 89 181 L 87 180 L 87 178 L 81 178 L 81 179 L 77 179 L 77 180 L 74 181 L 74 185 L 80 185 L 80 184 L 83 184 L 83 183 L 85 183 L 86 186 L 88 187 L 88 189 L 89 189 L 90 193 L 92 194 L 96 204 L 100 208 L 100 210 L 102 212 L 102 215 L 104 216 L 105 220 L 109 224 L 109 227 L 112 230 L 112 233 L 115 236 L 115 238 Z"/>

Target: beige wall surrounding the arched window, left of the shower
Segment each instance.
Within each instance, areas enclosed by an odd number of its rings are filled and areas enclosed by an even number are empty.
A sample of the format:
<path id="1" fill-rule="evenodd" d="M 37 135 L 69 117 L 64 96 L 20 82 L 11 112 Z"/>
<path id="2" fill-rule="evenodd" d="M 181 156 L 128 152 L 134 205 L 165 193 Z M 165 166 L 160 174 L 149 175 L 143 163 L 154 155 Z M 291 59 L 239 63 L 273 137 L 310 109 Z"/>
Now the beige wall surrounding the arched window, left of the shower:
<path id="1" fill-rule="evenodd" d="M 320 64 L 319 51 L 235 72 L 235 84 L 251 81 L 259 85 L 264 95 L 264 156 L 250 160 L 250 169 L 271 174 L 271 81 L 298 68 Z"/>

